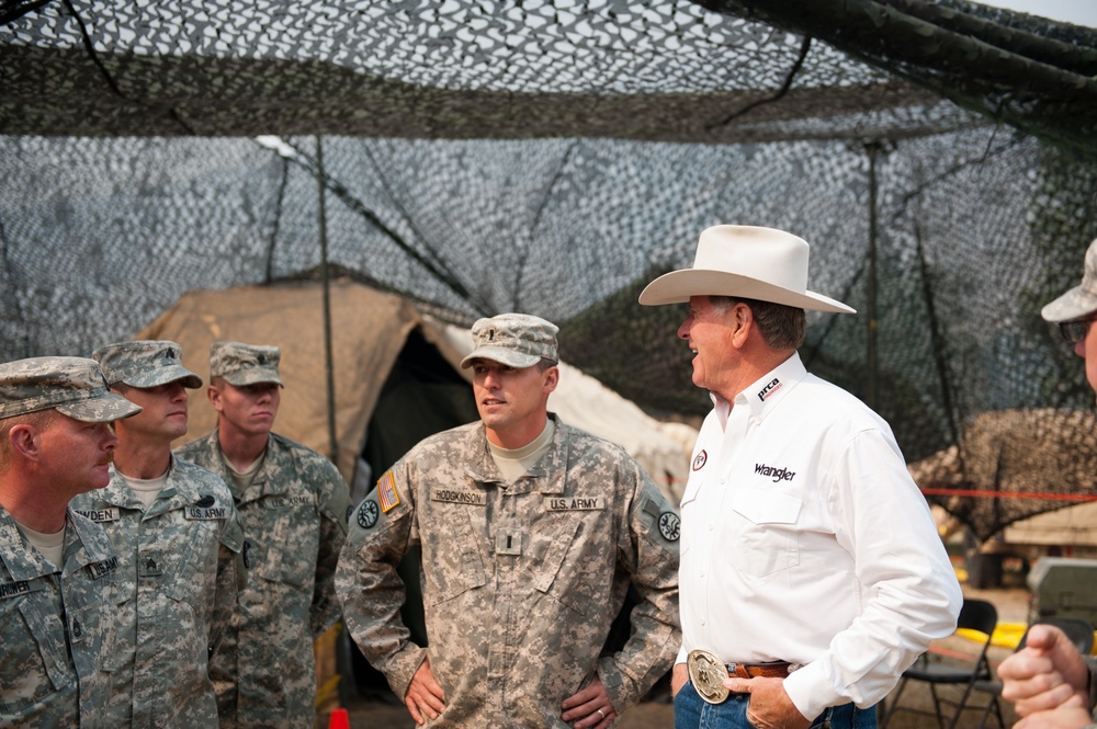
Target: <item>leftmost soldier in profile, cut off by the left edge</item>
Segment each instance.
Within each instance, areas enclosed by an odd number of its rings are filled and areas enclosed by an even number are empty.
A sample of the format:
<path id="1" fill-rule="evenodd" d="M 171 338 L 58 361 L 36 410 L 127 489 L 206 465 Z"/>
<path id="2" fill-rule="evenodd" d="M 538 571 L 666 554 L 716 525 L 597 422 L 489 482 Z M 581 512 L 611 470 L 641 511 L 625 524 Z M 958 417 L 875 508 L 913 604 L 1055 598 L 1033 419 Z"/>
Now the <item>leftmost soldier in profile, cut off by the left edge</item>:
<path id="1" fill-rule="evenodd" d="M 92 360 L 0 364 L 0 726 L 113 727 L 118 558 L 69 500 L 110 478 L 108 423 L 140 412 Z"/>

